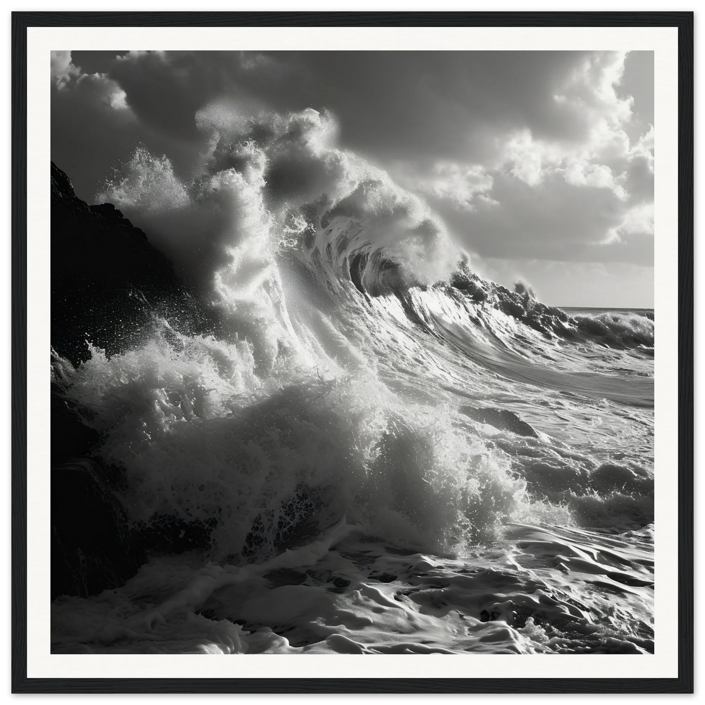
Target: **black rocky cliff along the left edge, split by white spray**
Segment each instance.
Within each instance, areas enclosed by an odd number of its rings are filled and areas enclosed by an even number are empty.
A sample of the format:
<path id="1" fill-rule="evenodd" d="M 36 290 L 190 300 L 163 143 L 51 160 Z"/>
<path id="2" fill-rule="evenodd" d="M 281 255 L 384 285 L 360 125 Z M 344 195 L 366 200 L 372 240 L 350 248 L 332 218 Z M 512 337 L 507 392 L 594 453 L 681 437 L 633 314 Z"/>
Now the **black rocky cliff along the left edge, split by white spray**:
<path id="1" fill-rule="evenodd" d="M 217 317 L 171 262 L 112 204 L 80 200 L 51 164 L 51 347 L 74 366 L 87 341 L 115 355 L 139 345 L 155 317 L 183 333 L 216 332 Z M 89 596 L 124 584 L 149 553 L 208 544 L 211 526 L 154 517 L 130 527 L 122 469 L 94 454 L 99 434 L 82 424 L 58 379 L 51 384 L 51 598 Z"/>

